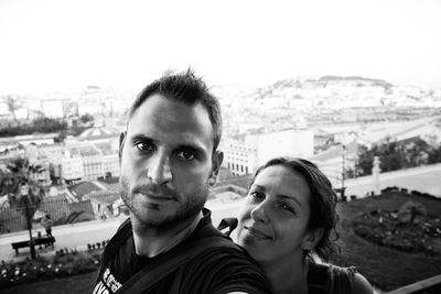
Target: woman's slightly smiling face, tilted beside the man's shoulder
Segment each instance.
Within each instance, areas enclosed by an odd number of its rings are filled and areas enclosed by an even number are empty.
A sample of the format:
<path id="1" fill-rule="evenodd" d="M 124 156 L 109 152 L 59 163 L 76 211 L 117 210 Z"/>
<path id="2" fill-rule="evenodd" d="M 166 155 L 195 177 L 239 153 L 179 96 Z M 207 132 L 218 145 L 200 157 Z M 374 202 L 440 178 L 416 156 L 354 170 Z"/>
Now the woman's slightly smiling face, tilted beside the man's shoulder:
<path id="1" fill-rule="evenodd" d="M 311 250 L 308 232 L 310 188 L 282 165 L 262 170 L 239 215 L 238 243 L 258 262 L 275 262 Z M 312 247 L 312 248 L 310 248 Z"/>

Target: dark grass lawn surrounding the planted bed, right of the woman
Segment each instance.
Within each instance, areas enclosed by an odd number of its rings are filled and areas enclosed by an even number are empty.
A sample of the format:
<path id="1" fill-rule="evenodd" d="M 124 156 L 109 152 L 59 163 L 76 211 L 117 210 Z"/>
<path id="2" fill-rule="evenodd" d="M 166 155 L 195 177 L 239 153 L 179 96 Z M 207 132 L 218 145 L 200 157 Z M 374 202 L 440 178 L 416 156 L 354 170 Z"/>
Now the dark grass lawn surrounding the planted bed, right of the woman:
<path id="1" fill-rule="evenodd" d="M 386 291 L 440 274 L 440 254 L 428 257 L 423 253 L 407 253 L 380 247 L 358 237 L 352 229 L 351 220 L 362 213 L 398 209 L 408 200 L 423 204 L 429 215 L 440 217 L 441 200 L 399 192 L 338 204 L 341 221 L 337 243 L 342 254 L 335 257 L 333 262 L 356 265 L 373 284 Z"/>

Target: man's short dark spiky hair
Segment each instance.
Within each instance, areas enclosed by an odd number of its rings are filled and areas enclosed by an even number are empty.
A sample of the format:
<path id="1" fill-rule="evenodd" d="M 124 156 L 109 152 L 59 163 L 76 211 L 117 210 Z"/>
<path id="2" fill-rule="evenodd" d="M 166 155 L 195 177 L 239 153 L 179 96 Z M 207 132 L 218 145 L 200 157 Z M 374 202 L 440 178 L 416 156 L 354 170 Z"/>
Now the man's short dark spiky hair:
<path id="1" fill-rule="evenodd" d="M 217 98 L 208 91 L 208 87 L 201 77 L 197 77 L 192 69 L 180 74 L 166 72 L 161 78 L 143 88 L 137 96 L 130 108 L 128 121 L 130 121 L 135 111 L 154 94 L 190 106 L 201 102 L 206 108 L 213 126 L 213 151 L 217 149 L 222 137 L 220 106 Z"/>

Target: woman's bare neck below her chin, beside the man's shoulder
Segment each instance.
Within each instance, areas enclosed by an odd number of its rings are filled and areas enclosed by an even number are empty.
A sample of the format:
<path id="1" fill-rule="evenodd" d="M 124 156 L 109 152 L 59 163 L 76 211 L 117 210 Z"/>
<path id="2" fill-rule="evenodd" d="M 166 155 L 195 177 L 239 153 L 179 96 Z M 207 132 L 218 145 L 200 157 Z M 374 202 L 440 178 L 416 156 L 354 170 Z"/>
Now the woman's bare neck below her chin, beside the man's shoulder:
<path id="1" fill-rule="evenodd" d="M 308 294 L 308 262 L 284 259 L 260 263 L 275 294 Z"/>

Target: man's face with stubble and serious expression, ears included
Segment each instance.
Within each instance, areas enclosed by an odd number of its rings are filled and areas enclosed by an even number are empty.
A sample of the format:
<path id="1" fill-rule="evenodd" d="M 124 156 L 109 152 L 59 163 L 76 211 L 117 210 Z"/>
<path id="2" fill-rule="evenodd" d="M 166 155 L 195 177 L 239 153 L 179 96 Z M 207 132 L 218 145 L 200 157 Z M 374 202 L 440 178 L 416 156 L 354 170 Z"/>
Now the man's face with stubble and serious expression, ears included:
<path id="1" fill-rule="evenodd" d="M 187 106 L 161 95 L 149 97 L 121 134 L 121 197 L 148 226 L 193 219 L 208 195 L 208 178 L 222 154 L 213 156 L 214 131 L 203 105 Z"/>

